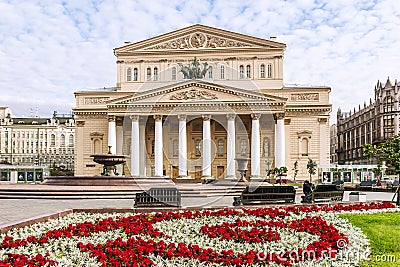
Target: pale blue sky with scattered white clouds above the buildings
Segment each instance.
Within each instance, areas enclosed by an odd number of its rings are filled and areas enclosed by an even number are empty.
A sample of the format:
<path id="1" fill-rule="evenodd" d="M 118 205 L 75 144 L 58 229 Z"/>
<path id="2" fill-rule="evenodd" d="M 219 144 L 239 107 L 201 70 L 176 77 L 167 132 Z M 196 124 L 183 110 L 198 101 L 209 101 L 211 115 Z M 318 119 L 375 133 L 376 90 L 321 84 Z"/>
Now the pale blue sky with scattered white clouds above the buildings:
<path id="1" fill-rule="evenodd" d="M 74 92 L 116 83 L 113 49 L 200 23 L 287 45 L 285 84 L 332 88 L 338 107 L 400 80 L 398 0 L 0 0 L 0 106 L 69 113 Z"/>

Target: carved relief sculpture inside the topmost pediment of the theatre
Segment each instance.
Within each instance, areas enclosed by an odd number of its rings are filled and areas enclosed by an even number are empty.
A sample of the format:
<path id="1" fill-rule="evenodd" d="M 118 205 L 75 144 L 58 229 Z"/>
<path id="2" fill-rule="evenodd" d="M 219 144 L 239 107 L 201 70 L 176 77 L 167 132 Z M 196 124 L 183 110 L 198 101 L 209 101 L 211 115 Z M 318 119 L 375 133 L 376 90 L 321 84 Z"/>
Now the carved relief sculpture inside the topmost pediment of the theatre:
<path id="1" fill-rule="evenodd" d="M 228 38 L 214 36 L 203 32 L 195 32 L 180 38 L 169 40 L 145 48 L 145 50 L 164 49 L 193 49 L 193 48 L 220 48 L 220 47 L 254 47 L 253 44 L 240 42 Z"/>

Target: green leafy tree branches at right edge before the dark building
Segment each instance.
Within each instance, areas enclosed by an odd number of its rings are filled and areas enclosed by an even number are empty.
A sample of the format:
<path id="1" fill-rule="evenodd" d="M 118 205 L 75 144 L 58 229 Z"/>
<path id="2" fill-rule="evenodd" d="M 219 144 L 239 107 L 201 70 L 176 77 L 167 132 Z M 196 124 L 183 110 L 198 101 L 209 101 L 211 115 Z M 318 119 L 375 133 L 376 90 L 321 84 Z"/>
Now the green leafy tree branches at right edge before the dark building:
<path id="1" fill-rule="evenodd" d="M 392 140 L 381 143 L 377 147 L 365 144 L 363 153 L 368 158 L 376 158 L 378 165 L 382 164 L 384 160 L 389 169 L 400 174 L 400 135 L 396 135 Z"/>

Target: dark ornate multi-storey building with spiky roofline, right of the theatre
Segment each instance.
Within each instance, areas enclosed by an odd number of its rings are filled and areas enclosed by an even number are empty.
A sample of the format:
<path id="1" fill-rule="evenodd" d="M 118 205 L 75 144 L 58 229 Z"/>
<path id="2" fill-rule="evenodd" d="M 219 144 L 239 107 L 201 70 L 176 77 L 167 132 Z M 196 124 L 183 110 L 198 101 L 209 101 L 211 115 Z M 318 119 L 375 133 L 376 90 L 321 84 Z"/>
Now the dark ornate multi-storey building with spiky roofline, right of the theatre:
<path id="1" fill-rule="evenodd" d="M 379 144 L 399 133 L 399 86 L 387 79 L 375 86 L 375 101 L 364 102 L 350 112 L 337 112 L 337 155 L 339 164 L 369 164 L 365 158 L 365 144 Z"/>

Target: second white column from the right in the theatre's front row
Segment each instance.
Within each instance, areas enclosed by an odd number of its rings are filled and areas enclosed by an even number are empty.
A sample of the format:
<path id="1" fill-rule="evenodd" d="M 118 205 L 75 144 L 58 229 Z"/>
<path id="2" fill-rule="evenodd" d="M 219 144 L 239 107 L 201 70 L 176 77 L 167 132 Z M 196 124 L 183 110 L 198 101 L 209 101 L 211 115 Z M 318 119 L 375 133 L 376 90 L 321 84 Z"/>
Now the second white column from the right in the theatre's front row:
<path id="1" fill-rule="evenodd" d="M 251 177 L 260 177 L 260 116 L 251 114 Z"/>

